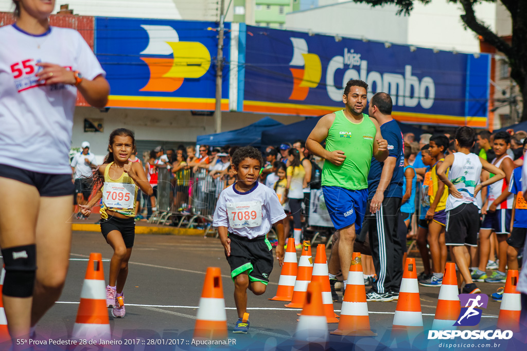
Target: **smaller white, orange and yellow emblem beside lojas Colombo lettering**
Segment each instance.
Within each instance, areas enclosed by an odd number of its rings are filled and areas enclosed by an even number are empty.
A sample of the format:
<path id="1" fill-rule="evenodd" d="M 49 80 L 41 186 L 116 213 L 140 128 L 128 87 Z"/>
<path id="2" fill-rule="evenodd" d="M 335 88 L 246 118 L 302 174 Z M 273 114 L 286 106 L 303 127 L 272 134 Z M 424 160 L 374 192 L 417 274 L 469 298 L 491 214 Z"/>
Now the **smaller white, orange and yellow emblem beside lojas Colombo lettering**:
<path id="1" fill-rule="evenodd" d="M 293 91 L 290 100 L 305 100 L 309 88 L 316 88 L 322 76 L 322 65 L 316 54 L 309 54 L 307 43 L 302 38 L 289 38 L 293 44 L 293 57 L 289 65 L 303 66 L 304 68 L 290 67 L 293 76 Z"/>

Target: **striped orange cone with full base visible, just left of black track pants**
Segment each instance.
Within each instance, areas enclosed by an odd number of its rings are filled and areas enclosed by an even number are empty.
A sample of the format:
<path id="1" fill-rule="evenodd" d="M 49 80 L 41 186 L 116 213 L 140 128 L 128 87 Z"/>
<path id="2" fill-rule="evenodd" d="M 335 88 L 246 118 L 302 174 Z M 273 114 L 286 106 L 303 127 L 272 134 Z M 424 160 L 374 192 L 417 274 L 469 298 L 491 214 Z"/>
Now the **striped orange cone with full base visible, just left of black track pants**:
<path id="1" fill-rule="evenodd" d="M 366 287 L 360 253 L 354 252 L 349 266 L 348 284 L 344 293 L 338 328 L 331 334 L 350 336 L 376 336 L 369 327 Z"/>

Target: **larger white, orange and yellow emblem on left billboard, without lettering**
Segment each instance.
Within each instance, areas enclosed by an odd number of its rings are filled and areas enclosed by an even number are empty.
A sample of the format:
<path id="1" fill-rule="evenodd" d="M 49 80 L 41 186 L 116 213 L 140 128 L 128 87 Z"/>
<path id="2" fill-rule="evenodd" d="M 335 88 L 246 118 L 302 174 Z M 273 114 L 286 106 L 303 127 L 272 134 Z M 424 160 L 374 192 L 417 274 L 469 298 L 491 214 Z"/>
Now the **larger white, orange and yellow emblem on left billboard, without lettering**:
<path id="1" fill-rule="evenodd" d="M 199 78 L 210 67 L 210 53 L 199 42 L 180 42 L 171 26 L 141 25 L 149 42 L 140 57 L 150 69 L 150 79 L 142 92 L 175 92 L 184 78 Z M 151 57 L 173 55 L 173 58 Z"/>

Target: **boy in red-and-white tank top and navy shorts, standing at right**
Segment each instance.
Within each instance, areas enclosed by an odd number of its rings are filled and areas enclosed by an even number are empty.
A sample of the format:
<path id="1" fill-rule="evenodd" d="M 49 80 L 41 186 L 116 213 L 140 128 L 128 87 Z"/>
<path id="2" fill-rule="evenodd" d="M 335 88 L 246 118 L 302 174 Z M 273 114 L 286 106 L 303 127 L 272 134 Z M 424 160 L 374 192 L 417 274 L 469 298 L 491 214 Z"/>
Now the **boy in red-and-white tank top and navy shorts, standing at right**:
<path id="1" fill-rule="evenodd" d="M 489 196 L 485 202 L 487 214 L 483 219 L 480 233 L 480 266 L 473 275 L 476 282 L 484 280 L 486 283 L 505 283 L 505 266 L 507 264 L 507 237 L 510 233 L 511 215 L 514 196 L 508 192 L 511 175 L 514 170 L 512 157 L 507 154 L 511 143 L 511 136 L 506 132 L 498 132 L 494 135 L 494 153 L 496 158 L 492 164 L 505 173 L 505 179 L 500 179 L 489 186 Z M 491 172 L 491 179 L 493 177 Z M 485 206 L 483 205 L 483 206 Z M 487 258 L 489 257 L 492 232 L 496 233 L 498 242 L 498 258 L 500 260 L 498 269 L 492 275 L 483 279 Z"/>

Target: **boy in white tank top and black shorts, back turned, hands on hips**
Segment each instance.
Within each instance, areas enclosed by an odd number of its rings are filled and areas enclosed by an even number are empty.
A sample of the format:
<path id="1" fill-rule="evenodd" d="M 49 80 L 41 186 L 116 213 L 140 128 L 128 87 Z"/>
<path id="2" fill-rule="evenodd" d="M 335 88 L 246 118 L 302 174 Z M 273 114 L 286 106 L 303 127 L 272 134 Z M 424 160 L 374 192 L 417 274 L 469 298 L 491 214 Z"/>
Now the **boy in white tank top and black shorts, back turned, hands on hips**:
<path id="1" fill-rule="evenodd" d="M 481 290 L 474 284 L 470 274 L 470 252 L 466 246 L 477 246 L 477 232 L 480 229 L 480 208 L 476 200 L 482 187 L 503 179 L 505 173 L 485 159 L 472 154 L 475 131 L 470 127 L 460 127 L 456 131 L 456 153 L 448 155 L 437 169 L 437 175 L 450 190 L 446 200 L 446 245 L 452 248 L 452 256 L 460 270 L 465 286 L 461 293 L 477 294 Z M 450 168 L 450 173 L 447 170 Z M 480 184 L 481 169 L 495 174 Z M 461 287 L 462 280 L 458 281 Z"/>

